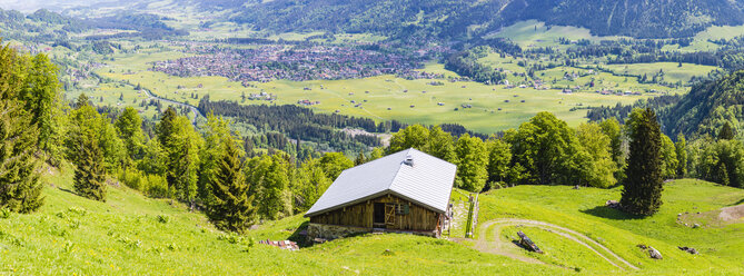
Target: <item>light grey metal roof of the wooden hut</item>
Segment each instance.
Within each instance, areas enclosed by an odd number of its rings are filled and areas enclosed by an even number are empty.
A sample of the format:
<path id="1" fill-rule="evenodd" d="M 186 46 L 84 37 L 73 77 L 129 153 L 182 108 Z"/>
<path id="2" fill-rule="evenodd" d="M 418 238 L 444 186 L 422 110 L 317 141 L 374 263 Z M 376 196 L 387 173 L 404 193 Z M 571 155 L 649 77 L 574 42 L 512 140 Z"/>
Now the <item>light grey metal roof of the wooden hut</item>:
<path id="1" fill-rule="evenodd" d="M 411 157 L 414 166 L 404 164 Z M 306 217 L 391 194 L 445 213 L 457 166 L 414 148 L 344 170 Z"/>

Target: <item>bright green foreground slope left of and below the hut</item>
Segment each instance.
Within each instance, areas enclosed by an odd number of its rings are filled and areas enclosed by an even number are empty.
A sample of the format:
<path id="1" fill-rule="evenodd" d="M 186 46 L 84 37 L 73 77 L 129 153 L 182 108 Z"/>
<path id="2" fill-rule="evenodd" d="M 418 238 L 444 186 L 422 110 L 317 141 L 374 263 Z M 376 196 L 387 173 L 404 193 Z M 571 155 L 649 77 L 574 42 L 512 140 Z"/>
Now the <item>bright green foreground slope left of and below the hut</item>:
<path id="1" fill-rule="evenodd" d="M 550 274 L 442 239 L 408 235 L 355 237 L 286 252 L 254 239 L 285 239 L 301 216 L 261 226 L 248 237 L 215 230 L 178 203 L 109 186 L 107 203 L 71 193 L 72 169 L 46 177 L 47 204 L 0 219 L 0 273 L 26 275 L 453 275 Z M 384 255 L 390 249 L 391 256 Z M 498 265 L 495 265 L 498 264 Z"/>

